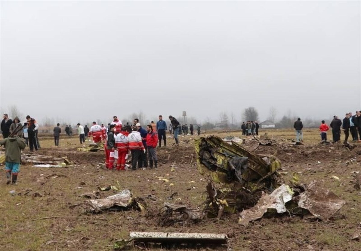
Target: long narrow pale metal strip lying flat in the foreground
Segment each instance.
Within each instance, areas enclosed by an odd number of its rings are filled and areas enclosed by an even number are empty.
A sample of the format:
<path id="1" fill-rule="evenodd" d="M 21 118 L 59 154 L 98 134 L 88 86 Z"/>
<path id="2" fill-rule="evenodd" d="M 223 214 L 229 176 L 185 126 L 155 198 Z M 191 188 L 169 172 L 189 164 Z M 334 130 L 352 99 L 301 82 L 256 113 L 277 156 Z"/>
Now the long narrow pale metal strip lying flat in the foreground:
<path id="1" fill-rule="evenodd" d="M 130 232 L 129 237 L 136 242 L 154 243 L 200 243 L 226 244 L 226 234 L 211 233 L 164 233 L 164 232 Z"/>

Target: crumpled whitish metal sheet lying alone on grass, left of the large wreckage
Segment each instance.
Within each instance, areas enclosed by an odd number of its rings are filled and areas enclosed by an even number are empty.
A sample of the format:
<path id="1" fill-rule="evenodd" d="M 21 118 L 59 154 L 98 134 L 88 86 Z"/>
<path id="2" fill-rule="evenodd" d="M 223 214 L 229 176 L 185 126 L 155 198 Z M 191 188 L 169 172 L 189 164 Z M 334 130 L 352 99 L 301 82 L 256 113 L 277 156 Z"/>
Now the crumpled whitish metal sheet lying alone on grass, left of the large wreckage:
<path id="1" fill-rule="evenodd" d="M 137 207 L 140 211 L 145 209 L 145 203 L 140 198 L 133 198 L 129 190 L 123 190 L 112 196 L 86 200 L 83 205 L 88 212 L 101 212 L 103 210 L 122 210 Z"/>

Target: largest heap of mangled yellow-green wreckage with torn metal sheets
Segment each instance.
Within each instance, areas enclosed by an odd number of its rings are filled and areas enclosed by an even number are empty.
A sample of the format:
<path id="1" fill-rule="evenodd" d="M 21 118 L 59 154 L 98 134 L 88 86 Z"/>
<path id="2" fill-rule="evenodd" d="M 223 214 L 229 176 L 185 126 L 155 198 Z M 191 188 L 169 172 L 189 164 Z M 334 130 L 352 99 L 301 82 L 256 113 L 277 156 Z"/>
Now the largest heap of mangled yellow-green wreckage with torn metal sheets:
<path id="1" fill-rule="evenodd" d="M 292 188 L 283 184 L 277 170 L 280 162 L 273 156 L 256 155 L 232 142 L 218 137 L 196 141 L 198 169 L 219 183 L 207 185 L 208 197 L 205 212 L 208 217 L 220 218 L 224 212 L 241 211 L 239 224 L 261 218 L 266 212 L 278 214 L 312 214 L 321 220 L 329 219 L 344 204 L 334 193 L 313 181 L 306 187 L 298 185 L 296 173 L 292 175 Z M 340 180 L 337 176 L 333 179 Z"/>

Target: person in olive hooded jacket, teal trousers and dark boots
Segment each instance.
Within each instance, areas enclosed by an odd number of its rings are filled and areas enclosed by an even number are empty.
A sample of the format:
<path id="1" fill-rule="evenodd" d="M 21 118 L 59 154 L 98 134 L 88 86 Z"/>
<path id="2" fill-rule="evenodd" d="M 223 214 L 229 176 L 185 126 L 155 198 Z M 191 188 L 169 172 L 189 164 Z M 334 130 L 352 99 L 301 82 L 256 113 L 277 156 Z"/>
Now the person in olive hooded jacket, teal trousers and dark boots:
<path id="1" fill-rule="evenodd" d="M 14 135 L 0 140 L 0 145 L 5 147 L 5 172 L 6 184 L 16 184 L 21 163 L 21 149 L 26 147 L 25 142 L 18 136 Z M 11 180 L 11 175 L 13 179 Z"/>

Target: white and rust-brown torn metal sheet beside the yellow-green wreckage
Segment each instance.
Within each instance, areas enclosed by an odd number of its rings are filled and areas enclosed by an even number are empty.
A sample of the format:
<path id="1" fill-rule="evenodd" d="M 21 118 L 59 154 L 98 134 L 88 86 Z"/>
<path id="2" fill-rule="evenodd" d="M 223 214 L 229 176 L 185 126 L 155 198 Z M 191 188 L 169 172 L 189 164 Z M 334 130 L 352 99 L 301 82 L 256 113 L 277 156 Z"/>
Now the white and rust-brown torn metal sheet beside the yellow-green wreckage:
<path id="1" fill-rule="evenodd" d="M 247 225 L 249 221 L 260 219 L 269 209 L 276 210 L 278 214 L 286 212 L 286 202 L 292 200 L 292 194 L 291 188 L 284 184 L 271 194 L 263 193 L 254 207 L 241 212 L 238 223 Z"/>

